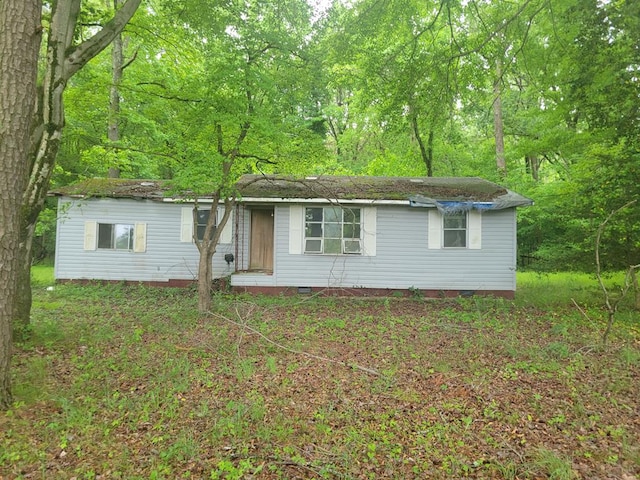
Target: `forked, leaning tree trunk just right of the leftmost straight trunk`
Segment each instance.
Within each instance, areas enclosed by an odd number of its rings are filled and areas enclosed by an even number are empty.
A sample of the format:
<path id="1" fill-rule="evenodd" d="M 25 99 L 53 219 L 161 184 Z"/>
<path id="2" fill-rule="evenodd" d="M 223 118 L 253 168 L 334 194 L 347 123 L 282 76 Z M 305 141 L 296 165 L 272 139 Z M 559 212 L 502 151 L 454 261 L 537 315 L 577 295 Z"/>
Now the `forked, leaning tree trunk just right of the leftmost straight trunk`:
<path id="1" fill-rule="evenodd" d="M 1 0 L 0 0 L 1 1 Z M 29 0 L 32 1 L 32 0 Z M 37 114 L 33 120 L 31 134 L 31 167 L 27 188 L 22 195 L 21 254 L 29 257 L 32 250 L 33 232 L 49 189 L 60 139 L 64 127 L 63 94 L 69 79 L 89 60 L 104 50 L 131 19 L 141 0 L 127 0 L 93 37 L 74 45 L 81 0 L 57 0 L 53 3 L 48 32 L 47 58 L 43 84 L 38 95 Z M 34 92 L 34 97 L 36 96 Z M 30 117 L 31 118 L 31 117 Z M 20 273 L 19 297 L 29 299 L 21 306 L 19 317 L 15 317 L 17 328 L 26 330 L 31 314 L 30 278 L 31 261 L 22 262 L 25 271 Z"/>

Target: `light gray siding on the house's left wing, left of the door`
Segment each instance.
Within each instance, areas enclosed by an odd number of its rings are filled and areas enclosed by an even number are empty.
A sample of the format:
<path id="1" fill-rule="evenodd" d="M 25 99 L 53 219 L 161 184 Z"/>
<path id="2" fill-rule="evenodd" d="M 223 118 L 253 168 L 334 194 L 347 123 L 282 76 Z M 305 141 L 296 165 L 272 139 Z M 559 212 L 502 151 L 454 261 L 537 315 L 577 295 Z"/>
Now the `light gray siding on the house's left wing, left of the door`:
<path id="1" fill-rule="evenodd" d="M 61 198 L 58 202 L 56 279 L 158 281 L 197 277 L 198 249 L 180 241 L 183 204 L 151 200 Z M 85 222 L 146 224 L 146 250 L 84 250 Z M 233 272 L 225 253 L 233 244 L 218 245 L 213 258 L 214 277 Z"/>

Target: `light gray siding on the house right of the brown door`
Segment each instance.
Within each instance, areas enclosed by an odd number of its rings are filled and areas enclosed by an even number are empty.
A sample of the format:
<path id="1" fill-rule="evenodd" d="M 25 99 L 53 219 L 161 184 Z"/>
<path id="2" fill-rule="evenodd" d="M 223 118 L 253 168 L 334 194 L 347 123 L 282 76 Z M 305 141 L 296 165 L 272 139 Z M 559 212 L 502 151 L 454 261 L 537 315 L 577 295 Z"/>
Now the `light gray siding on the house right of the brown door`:
<path id="1" fill-rule="evenodd" d="M 275 210 L 269 284 L 289 287 L 515 290 L 515 209 L 482 214 L 482 248 L 428 249 L 428 210 L 377 206 L 376 256 L 289 254 L 289 206 Z M 266 280 L 266 279 L 263 279 Z M 259 275 L 232 277 L 258 284 Z"/>

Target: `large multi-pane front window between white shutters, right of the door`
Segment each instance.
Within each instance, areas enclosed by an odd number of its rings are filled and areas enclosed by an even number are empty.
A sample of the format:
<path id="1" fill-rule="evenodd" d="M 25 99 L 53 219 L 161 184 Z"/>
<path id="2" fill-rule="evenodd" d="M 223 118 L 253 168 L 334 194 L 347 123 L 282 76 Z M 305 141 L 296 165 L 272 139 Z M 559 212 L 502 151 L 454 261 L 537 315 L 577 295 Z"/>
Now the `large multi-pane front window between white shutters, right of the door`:
<path id="1" fill-rule="evenodd" d="M 361 230 L 359 208 L 306 208 L 304 252 L 361 254 Z"/>

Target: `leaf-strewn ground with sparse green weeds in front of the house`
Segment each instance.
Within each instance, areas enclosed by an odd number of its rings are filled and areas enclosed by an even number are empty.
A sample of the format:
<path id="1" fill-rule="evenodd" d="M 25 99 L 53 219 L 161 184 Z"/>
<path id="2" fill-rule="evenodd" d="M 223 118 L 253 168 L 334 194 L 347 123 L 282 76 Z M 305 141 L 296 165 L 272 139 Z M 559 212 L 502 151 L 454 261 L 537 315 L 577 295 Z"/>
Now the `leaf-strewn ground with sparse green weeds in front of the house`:
<path id="1" fill-rule="evenodd" d="M 40 289 L 1 478 L 640 475 L 627 315 L 463 300 Z M 635 321 L 635 323 L 634 323 Z"/>

